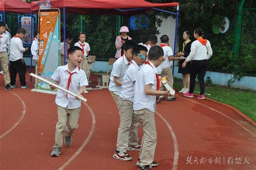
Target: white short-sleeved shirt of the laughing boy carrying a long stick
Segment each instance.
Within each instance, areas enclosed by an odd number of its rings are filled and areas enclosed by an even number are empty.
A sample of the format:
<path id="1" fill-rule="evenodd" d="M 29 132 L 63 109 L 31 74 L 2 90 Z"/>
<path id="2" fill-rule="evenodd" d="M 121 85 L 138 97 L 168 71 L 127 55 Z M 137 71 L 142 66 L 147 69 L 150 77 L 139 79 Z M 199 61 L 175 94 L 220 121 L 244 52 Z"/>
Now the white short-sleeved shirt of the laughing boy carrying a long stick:
<path id="1" fill-rule="evenodd" d="M 79 69 L 78 66 L 71 73 L 73 72 L 76 73 L 71 76 L 69 91 L 77 94 L 80 90 L 80 86 L 88 86 L 88 81 L 85 72 L 82 69 Z M 65 66 L 60 66 L 55 70 L 52 74 L 52 80 L 59 81 L 59 86 L 67 89 L 69 75 L 68 64 L 66 64 Z M 66 92 L 58 89 L 55 103 L 68 109 L 79 108 L 81 106 L 81 100 L 76 100 L 76 98 L 70 94 L 67 95 L 67 98 L 66 94 Z"/>

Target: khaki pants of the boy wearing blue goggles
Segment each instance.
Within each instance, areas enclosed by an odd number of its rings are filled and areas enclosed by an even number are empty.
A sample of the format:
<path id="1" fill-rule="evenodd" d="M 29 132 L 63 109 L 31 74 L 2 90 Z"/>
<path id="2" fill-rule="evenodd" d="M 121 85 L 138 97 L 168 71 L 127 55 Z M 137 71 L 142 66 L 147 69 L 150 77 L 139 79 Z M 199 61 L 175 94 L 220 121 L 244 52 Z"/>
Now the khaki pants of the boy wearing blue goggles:
<path id="1" fill-rule="evenodd" d="M 133 103 L 130 100 L 119 98 L 120 125 L 118 128 L 116 150 L 126 152 L 128 145 L 138 146 L 139 120 L 133 116 Z"/>

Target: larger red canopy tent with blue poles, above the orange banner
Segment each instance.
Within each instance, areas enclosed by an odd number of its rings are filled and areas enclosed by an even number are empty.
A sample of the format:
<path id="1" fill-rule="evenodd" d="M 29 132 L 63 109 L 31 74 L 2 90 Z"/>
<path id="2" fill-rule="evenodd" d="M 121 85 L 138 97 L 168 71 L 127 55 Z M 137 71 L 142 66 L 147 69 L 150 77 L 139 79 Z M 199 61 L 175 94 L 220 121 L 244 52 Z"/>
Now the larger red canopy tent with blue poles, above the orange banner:
<path id="1" fill-rule="evenodd" d="M 158 10 L 167 12 L 176 16 L 174 55 L 176 52 L 176 39 L 178 27 L 179 3 L 172 2 L 166 4 L 150 3 L 145 0 L 39 0 L 31 2 L 32 12 L 40 10 L 40 4 L 51 8 L 60 8 L 63 12 L 64 40 L 66 39 L 66 12 L 76 14 L 108 14 L 108 15 L 134 15 L 144 14 L 145 12 Z M 43 5 L 43 6 L 44 6 Z M 166 11 L 165 9 L 177 6 L 176 13 Z M 64 46 L 64 56 L 66 55 L 66 46 Z M 64 64 L 66 61 L 64 60 Z M 174 68 L 174 67 L 173 67 Z M 174 73 L 174 69 L 172 70 Z"/>

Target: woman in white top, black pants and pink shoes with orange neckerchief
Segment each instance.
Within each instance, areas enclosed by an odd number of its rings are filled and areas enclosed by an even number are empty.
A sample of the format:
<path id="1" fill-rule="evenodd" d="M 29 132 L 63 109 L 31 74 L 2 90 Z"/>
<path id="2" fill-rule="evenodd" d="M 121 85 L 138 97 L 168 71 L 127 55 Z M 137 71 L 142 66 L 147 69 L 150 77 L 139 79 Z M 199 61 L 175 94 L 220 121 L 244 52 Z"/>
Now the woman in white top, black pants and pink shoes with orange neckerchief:
<path id="1" fill-rule="evenodd" d="M 183 96 L 194 97 L 194 88 L 196 84 L 196 76 L 198 74 L 198 80 L 200 84 L 200 95 L 198 99 L 204 99 L 205 82 L 204 76 L 208 60 L 212 56 L 211 44 L 205 39 L 202 28 L 196 28 L 194 30 L 194 38 L 197 40 L 192 42 L 191 51 L 187 59 L 182 64 L 182 68 L 186 67 L 186 64 L 192 60 L 191 72 L 190 72 L 190 89 L 188 92 L 183 93 Z"/>

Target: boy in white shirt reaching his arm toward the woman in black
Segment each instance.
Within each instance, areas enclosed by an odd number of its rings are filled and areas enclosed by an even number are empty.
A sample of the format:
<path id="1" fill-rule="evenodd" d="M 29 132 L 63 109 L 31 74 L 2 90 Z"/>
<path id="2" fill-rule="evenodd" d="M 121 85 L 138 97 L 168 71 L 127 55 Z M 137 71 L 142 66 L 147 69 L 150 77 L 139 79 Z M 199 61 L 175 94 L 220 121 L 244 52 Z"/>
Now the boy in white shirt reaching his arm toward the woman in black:
<path id="1" fill-rule="evenodd" d="M 167 35 L 163 35 L 160 37 L 160 47 L 164 50 L 164 61 L 160 65 L 162 68 L 161 76 L 165 77 L 168 84 L 173 88 L 173 76 L 171 70 L 171 64 L 173 60 L 180 60 L 181 57 L 173 57 L 172 48 L 169 46 L 169 37 Z M 164 91 L 164 87 L 160 88 L 160 91 Z M 159 96 L 157 102 L 161 102 L 164 96 Z M 167 101 L 176 101 L 177 98 L 174 95 L 170 95 L 167 98 Z"/>

